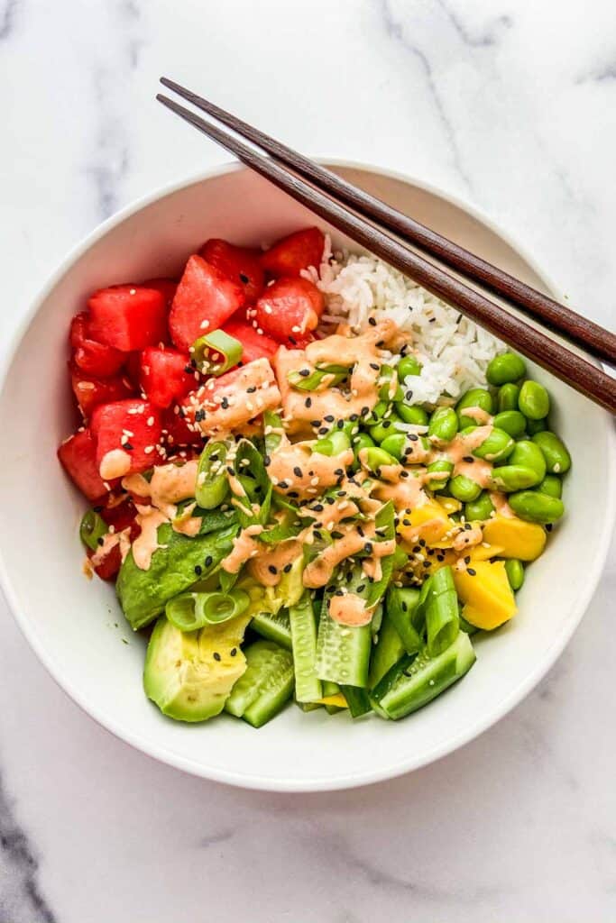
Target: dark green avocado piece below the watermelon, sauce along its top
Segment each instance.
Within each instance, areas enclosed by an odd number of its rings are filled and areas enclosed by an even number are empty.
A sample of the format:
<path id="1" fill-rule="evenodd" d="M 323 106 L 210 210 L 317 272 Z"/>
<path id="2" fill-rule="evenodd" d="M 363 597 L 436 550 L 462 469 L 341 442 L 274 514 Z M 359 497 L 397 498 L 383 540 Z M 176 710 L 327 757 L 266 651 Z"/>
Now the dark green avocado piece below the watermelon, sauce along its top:
<path id="1" fill-rule="evenodd" d="M 178 593 L 207 577 L 232 549 L 237 523 L 230 521 L 223 529 L 194 538 L 174 532 L 164 522 L 158 528 L 158 544 L 148 570 L 135 564 L 132 552 L 120 568 L 115 590 L 131 627 L 148 625 Z"/>

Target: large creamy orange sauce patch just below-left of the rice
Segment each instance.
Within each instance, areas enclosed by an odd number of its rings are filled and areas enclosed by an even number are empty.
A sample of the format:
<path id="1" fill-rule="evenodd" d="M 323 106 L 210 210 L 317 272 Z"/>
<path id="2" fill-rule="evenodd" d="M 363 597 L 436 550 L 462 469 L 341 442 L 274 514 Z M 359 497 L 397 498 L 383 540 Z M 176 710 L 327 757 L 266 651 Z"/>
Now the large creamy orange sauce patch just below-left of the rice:
<path id="1" fill-rule="evenodd" d="M 333 333 L 324 340 L 308 343 L 305 350 L 287 350 L 281 346 L 273 358 L 273 366 L 282 396 L 284 419 L 290 433 L 301 432 L 309 421 L 332 414 L 336 419 L 347 419 L 371 410 L 379 400 L 380 348 L 377 343 L 391 344 L 397 336 L 393 321 L 382 320 L 355 337 Z M 294 390 L 288 383 L 289 372 L 316 366 L 348 366 L 352 368 L 349 393 L 331 388 L 326 392 Z M 376 367 L 373 367 L 376 366 Z M 307 399 L 308 406 L 306 405 Z"/>

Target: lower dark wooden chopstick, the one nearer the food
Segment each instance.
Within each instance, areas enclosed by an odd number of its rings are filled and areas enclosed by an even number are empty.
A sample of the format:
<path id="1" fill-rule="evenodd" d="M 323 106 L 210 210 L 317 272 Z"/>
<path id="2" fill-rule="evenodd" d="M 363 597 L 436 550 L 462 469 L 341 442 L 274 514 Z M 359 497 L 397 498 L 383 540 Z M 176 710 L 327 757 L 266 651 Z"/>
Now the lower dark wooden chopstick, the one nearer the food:
<path id="1" fill-rule="evenodd" d="M 468 288 L 440 267 L 420 257 L 400 240 L 381 231 L 340 202 L 329 198 L 320 189 L 310 186 L 306 180 L 290 173 L 284 165 L 263 157 L 221 128 L 211 125 L 163 94 L 159 93 L 156 99 L 358 244 L 365 246 L 395 269 L 423 285 L 429 292 L 477 321 L 490 333 L 533 359 L 537 365 L 548 369 L 590 400 L 616 414 L 616 379 L 610 378 L 597 366 L 586 362 L 561 343 L 551 340 L 521 318 L 509 314 L 489 301 L 489 298 Z"/>

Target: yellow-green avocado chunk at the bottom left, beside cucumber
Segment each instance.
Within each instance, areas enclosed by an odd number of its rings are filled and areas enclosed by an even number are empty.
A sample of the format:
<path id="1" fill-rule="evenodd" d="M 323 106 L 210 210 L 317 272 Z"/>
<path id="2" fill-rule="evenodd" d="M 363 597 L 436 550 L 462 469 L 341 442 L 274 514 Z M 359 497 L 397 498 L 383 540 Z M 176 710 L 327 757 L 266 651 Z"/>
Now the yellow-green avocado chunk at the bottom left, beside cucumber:
<path id="1" fill-rule="evenodd" d="M 180 631 L 164 616 L 151 633 L 143 689 L 175 721 L 207 721 L 223 711 L 236 679 L 246 670 L 239 645 L 249 616 L 199 631 Z"/>

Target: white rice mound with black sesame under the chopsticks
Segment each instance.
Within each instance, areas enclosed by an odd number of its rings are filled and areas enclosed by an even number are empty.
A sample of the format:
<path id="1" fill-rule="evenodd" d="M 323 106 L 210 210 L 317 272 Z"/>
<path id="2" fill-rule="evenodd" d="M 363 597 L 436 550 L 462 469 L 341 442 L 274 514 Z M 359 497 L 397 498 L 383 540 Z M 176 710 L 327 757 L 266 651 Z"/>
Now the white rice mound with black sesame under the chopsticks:
<path id="1" fill-rule="evenodd" d="M 328 236 L 319 271 L 305 273 L 325 296 L 322 321 L 329 332 L 341 322 L 359 331 L 370 316 L 393 318 L 422 364 L 420 375 L 405 378 L 406 403 L 446 403 L 447 395 L 485 386 L 488 363 L 504 343 L 381 259 L 332 255 L 331 247 Z"/>

